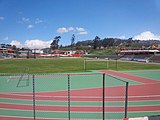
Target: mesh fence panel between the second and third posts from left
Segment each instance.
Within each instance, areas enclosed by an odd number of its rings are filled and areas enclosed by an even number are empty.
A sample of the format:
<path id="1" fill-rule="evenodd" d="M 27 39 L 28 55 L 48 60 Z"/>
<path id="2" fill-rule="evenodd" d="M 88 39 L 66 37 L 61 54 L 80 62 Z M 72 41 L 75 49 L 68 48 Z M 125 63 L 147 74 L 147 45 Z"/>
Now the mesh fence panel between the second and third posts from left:
<path id="1" fill-rule="evenodd" d="M 70 118 L 102 119 L 102 74 L 70 75 Z"/>

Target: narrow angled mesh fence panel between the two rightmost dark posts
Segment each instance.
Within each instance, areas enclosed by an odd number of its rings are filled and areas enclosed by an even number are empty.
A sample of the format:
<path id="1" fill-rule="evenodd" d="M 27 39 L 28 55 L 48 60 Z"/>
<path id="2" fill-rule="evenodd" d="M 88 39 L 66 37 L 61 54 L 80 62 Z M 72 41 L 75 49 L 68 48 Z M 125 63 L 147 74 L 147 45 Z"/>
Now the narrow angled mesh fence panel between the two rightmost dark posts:
<path id="1" fill-rule="evenodd" d="M 126 107 L 126 82 L 120 78 L 106 75 L 105 119 L 123 119 Z"/>

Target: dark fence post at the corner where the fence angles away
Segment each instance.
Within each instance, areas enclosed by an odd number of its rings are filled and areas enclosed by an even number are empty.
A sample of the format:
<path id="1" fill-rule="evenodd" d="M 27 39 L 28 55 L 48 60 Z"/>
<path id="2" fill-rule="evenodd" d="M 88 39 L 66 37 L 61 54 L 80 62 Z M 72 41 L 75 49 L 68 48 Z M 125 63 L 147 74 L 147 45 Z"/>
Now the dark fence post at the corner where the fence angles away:
<path id="1" fill-rule="evenodd" d="M 105 74 L 103 73 L 103 100 L 102 100 L 103 120 L 105 120 Z"/>

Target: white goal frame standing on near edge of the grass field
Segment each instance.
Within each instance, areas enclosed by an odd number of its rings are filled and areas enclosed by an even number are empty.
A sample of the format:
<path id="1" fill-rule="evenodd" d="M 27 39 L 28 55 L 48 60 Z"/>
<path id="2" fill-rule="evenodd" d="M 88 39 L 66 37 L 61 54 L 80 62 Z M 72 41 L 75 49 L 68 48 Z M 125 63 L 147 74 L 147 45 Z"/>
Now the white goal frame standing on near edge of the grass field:
<path id="1" fill-rule="evenodd" d="M 106 59 L 97 59 L 97 58 L 96 59 L 84 59 L 84 62 L 83 62 L 84 71 L 86 71 L 88 69 L 89 62 L 90 63 L 94 62 L 95 63 L 94 65 L 97 64 L 97 66 L 98 66 L 98 64 L 102 63 L 103 68 L 105 68 L 105 69 L 109 68 L 109 59 L 108 58 L 106 58 Z"/>

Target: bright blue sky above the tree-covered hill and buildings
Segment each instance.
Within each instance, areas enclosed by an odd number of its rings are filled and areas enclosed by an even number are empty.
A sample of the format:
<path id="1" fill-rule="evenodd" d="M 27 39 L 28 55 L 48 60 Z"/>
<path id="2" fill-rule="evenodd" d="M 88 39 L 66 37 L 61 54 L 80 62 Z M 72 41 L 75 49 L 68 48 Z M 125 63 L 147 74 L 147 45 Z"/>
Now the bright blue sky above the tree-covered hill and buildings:
<path id="1" fill-rule="evenodd" d="M 160 40 L 160 0 L 0 0 L 0 44 L 46 48 L 103 38 Z"/>

